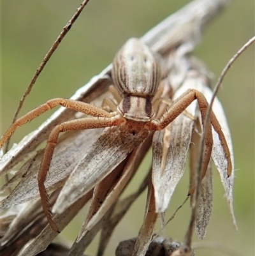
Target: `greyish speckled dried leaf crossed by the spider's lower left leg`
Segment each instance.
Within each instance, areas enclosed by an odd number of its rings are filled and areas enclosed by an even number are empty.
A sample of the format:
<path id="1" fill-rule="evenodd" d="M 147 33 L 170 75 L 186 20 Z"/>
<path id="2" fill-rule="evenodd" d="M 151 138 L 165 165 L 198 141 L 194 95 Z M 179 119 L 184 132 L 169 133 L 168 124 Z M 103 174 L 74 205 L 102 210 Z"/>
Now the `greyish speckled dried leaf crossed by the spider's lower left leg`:
<path id="1" fill-rule="evenodd" d="M 70 172 L 89 150 L 91 143 L 96 140 L 99 132 L 100 130 L 85 130 L 73 133 L 66 140 L 57 144 L 45 183 L 48 191 L 52 192 L 64 184 Z M 6 199 L 1 201 L 0 211 L 17 204 L 22 204 L 28 200 L 39 198 L 38 170 L 40 168 L 41 157 L 42 153 L 36 157 L 32 166 L 29 162 L 23 167 L 24 169 L 29 168 L 30 173 L 16 186 Z M 20 171 L 24 173 L 24 170 Z"/>

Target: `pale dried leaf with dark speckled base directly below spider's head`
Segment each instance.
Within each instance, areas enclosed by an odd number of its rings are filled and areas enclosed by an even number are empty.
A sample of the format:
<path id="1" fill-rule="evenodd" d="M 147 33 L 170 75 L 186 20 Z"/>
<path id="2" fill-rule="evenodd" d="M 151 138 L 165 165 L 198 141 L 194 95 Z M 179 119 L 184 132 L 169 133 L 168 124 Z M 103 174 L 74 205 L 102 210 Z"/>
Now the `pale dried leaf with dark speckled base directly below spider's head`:
<path id="1" fill-rule="evenodd" d="M 106 128 L 64 184 L 54 213 L 64 211 L 112 172 L 135 147 L 134 137 L 128 133 L 123 143 L 118 128 Z"/>

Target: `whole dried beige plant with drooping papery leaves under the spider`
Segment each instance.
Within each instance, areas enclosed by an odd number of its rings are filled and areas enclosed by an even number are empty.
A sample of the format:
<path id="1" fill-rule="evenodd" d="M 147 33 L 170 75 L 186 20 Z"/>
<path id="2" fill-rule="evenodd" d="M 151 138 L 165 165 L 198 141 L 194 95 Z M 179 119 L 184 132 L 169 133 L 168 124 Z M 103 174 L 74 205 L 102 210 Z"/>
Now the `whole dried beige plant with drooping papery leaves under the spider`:
<path id="1" fill-rule="evenodd" d="M 228 2 L 193 1 L 141 38 L 161 60 L 164 104 L 159 109 L 160 113 L 189 89 L 200 91 L 207 102 L 211 101 L 213 93 L 210 89 L 210 72 L 191 53 L 203 28 Z M 108 91 L 112 84 L 111 70 L 112 65 L 93 77 L 71 99 L 100 107 L 103 99 L 112 97 Z M 214 129 L 212 160 L 219 171 L 233 223 L 236 225 L 233 213 L 234 165 L 230 130 L 217 98 L 212 110 L 221 124 L 230 149 L 231 170 L 227 172 L 228 160 L 222 141 Z M 99 230 L 101 237 L 97 255 L 103 255 L 116 225 L 147 186 L 144 222 L 138 237 L 127 242 L 131 243 L 131 247 L 128 244 L 128 255 L 194 255 L 191 248 L 193 225 L 197 236 L 202 239 L 212 213 L 211 163 L 203 174 L 201 186 L 198 183 L 201 177 L 201 168 L 199 174 L 197 169 L 198 158 L 203 151 L 200 153 L 201 117 L 195 102 L 164 130 L 150 133 L 139 146 L 133 143 L 131 134 L 123 141 L 122 133 L 117 127 L 70 132 L 61 136 L 45 182 L 47 193 L 51 194 L 50 204 L 56 213 L 53 220 L 58 229 L 64 229 L 89 200 L 91 203 L 73 246 L 63 248 L 52 245 L 58 233 L 50 227 L 41 208 L 37 177 L 43 151 L 36 151 L 36 148 L 47 139 L 54 126 L 77 117 L 80 116 L 73 110 L 57 110 L 36 131 L 27 135 L 0 159 L 1 176 L 10 173 L 14 167 L 21 166 L 1 188 L 1 192 L 6 192 L 8 188 L 15 186 L 0 204 L 1 211 L 7 210 L 0 218 L 1 255 L 37 255 L 44 250 L 44 254 L 40 255 L 50 255 L 47 254 L 50 250 L 54 250 L 52 255 L 83 255 Z M 148 170 L 147 177 L 136 192 L 126 198 L 120 197 L 151 146 L 152 167 Z M 157 218 L 160 218 L 164 228 L 164 212 L 184 174 L 188 152 L 191 154 L 189 193 L 193 216 L 184 243 L 180 244 L 161 237 L 155 238 L 154 225 Z M 194 190 L 197 192 L 196 197 Z M 151 249 L 152 241 L 156 249 Z M 48 246 L 51 248 L 47 249 Z M 147 252 L 148 248 L 150 250 Z M 116 255 L 126 255 L 124 251 L 119 246 Z"/>

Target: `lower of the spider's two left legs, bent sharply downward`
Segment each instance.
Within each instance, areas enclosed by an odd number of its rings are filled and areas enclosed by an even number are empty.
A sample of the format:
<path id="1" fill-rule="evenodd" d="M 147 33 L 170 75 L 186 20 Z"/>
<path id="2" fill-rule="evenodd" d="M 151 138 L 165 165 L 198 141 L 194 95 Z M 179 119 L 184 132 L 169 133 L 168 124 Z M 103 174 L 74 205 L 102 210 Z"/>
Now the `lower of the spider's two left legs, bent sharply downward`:
<path id="1" fill-rule="evenodd" d="M 41 204 L 43 206 L 43 211 L 47 216 L 48 223 L 52 229 L 59 232 L 57 225 L 54 220 L 52 220 L 52 213 L 50 211 L 50 203 L 48 200 L 48 195 L 45 189 L 45 180 L 47 177 L 48 170 L 50 168 L 50 162 L 52 160 L 52 155 L 54 153 L 55 145 L 57 144 L 57 139 L 59 133 L 73 131 L 73 130 L 85 130 L 92 128 L 103 128 L 108 126 L 117 126 L 123 122 L 123 118 L 118 114 L 114 117 L 86 117 L 82 119 L 76 119 L 71 121 L 66 121 L 59 124 L 53 128 L 47 140 L 47 146 L 45 147 L 45 152 L 43 154 L 43 159 L 41 160 L 40 171 L 38 174 L 38 186 L 41 197 Z"/>

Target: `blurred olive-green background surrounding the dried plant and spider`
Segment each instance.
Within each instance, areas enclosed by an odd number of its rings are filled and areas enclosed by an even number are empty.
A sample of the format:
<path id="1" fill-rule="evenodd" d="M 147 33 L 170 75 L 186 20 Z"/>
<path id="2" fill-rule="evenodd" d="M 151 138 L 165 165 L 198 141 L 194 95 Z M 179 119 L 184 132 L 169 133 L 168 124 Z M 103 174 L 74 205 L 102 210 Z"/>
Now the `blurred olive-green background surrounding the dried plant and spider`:
<path id="1" fill-rule="evenodd" d="M 10 126 L 18 100 L 80 2 L 81 0 L 1 1 L 0 135 Z M 22 114 L 50 98 L 69 98 L 112 61 L 115 52 L 128 38 L 142 36 L 188 2 L 91 0 L 41 73 L 25 102 Z M 233 1 L 207 27 L 195 54 L 215 73 L 216 81 L 233 54 L 253 35 L 254 1 Z M 246 50 L 228 72 L 219 98 L 226 110 L 233 136 L 236 169 L 234 206 L 239 230 L 237 232 L 231 223 L 222 185 L 214 170 L 214 209 L 204 241 L 228 246 L 240 252 L 240 255 L 254 255 L 254 47 Z M 18 142 L 50 114 L 20 128 L 13 141 Z M 147 158 L 147 166 L 149 161 Z M 135 180 L 136 185 L 143 175 L 143 170 L 140 170 L 140 175 Z M 167 216 L 185 199 L 187 186 L 186 175 L 177 188 Z M 145 197 L 146 193 L 143 193 L 115 230 L 107 255 L 114 254 L 119 241 L 138 234 L 143 220 Z M 189 215 L 189 206 L 186 204 L 168 224 L 164 236 L 182 241 Z M 80 213 L 63 232 L 64 236 L 74 240 L 84 217 L 85 213 Z M 194 240 L 196 241 L 195 237 Z M 95 248 L 96 243 L 89 247 L 87 254 L 94 255 Z M 224 254 L 204 249 L 198 250 L 196 255 Z"/>

